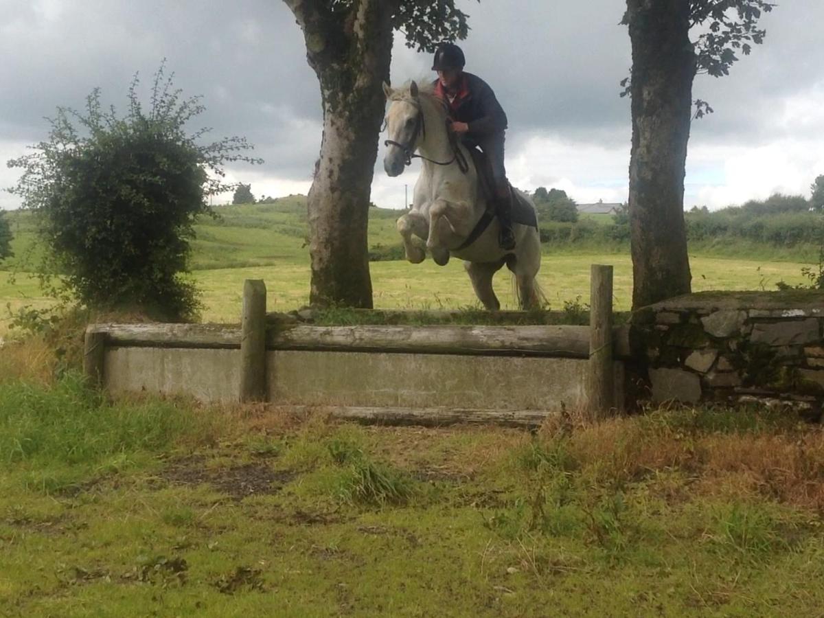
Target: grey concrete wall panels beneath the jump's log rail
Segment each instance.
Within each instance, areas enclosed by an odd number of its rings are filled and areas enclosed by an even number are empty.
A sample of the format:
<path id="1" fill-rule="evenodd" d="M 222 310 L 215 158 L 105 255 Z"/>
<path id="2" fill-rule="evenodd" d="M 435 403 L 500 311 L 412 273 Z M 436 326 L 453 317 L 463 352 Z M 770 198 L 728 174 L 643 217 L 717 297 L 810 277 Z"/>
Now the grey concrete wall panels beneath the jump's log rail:
<path id="1" fill-rule="evenodd" d="M 283 405 L 559 410 L 583 405 L 588 362 L 448 354 L 272 351 L 267 353 L 269 401 Z M 623 400 L 622 363 L 616 391 Z M 240 351 L 110 348 L 104 382 L 127 392 L 194 396 L 234 402 Z"/>

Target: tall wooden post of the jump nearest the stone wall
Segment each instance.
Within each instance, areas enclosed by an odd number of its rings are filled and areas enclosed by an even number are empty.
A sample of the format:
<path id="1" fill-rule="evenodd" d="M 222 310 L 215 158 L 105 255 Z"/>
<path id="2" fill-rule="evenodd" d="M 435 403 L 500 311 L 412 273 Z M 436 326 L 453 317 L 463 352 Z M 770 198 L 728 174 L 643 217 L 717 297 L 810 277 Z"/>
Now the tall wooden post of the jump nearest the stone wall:
<path id="1" fill-rule="evenodd" d="M 589 410 L 596 417 L 615 408 L 612 359 L 612 267 L 592 265 L 589 314 Z"/>

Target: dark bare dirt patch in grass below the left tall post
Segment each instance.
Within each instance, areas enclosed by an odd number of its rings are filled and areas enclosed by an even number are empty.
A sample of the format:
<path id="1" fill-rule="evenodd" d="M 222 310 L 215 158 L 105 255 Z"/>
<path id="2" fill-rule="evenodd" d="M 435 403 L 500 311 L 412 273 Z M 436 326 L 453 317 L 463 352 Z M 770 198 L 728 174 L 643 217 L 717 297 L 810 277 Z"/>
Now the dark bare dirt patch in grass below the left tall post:
<path id="1" fill-rule="evenodd" d="M 252 495 L 275 494 L 292 481 L 297 473 L 274 471 L 265 462 L 238 466 L 209 468 L 203 456 L 191 456 L 171 461 L 161 478 L 175 485 L 212 485 L 222 494 L 235 500 Z"/>

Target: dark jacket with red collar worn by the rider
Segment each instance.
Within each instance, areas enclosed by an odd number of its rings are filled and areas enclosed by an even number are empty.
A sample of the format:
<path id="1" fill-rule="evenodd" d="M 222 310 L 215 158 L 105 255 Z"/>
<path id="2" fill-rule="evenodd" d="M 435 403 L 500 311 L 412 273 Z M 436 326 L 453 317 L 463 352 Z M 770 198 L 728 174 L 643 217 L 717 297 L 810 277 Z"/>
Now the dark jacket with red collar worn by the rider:
<path id="1" fill-rule="evenodd" d="M 507 115 L 492 88 L 472 73 L 463 73 L 461 88 L 452 103 L 443 91 L 440 80 L 435 80 L 434 92 L 447 102 L 453 120 L 469 125 L 467 136 L 470 138 L 480 138 L 507 128 Z"/>

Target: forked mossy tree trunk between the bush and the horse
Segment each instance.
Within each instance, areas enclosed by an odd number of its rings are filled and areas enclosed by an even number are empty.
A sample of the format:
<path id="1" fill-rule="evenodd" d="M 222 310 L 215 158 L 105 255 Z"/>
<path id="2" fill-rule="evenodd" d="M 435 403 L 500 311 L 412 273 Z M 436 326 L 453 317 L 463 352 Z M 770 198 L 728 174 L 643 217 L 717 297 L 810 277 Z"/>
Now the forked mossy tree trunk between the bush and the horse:
<path id="1" fill-rule="evenodd" d="M 389 80 L 393 0 L 284 0 L 297 17 L 321 84 L 323 138 L 309 191 L 313 305 L 372 307 L 368 214 Z"/>

